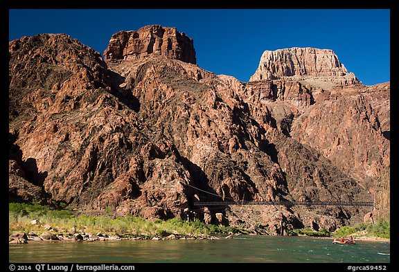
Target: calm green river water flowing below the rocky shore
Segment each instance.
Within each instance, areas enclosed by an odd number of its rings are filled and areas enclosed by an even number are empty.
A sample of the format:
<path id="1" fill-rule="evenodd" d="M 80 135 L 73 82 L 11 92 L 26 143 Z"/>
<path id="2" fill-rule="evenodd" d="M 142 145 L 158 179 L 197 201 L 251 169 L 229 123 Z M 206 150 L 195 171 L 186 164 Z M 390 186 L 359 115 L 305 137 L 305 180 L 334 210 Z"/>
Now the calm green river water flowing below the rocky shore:
<path id="1" fill-rule="evenodd" d="M 389 263 L 388 242 L 242 235 L 233 239 L 10 244 L 10 263 L 301 262 Z"/>

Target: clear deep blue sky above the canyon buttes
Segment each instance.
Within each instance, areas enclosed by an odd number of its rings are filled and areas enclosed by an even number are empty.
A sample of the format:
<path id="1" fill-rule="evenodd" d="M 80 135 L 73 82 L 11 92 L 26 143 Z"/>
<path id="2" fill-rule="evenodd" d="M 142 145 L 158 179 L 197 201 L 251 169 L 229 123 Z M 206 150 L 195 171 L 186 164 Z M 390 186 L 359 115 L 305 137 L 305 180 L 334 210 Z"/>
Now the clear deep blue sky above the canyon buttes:
<path id="1" fill-rule="evenodd" d="M 242 82 L 256 71 L 263 51 L 294 46 L 332 49 L 363 84 L 390 80 L 387 9 L 29 9 L 9 15 L 10 41 L 66 33 L 101 54 L 120 30 L 173 26 L 194 39 L 202 69 Z"/>

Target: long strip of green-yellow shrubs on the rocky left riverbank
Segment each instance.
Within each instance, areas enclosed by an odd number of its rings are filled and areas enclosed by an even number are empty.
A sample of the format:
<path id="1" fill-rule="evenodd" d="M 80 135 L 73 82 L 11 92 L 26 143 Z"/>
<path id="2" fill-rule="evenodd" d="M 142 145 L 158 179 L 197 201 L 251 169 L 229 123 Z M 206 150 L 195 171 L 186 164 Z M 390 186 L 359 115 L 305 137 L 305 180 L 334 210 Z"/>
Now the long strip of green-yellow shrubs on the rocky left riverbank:
<path id="1" fill-rule="evenodd" d="M 97 233 L 97 237 L 157 239 L 169 237 L 209 238 L 215 233 L 245 233 L 245 230 L 229 226 L 205 225 L 204 222 L 168 220 L 147 220 L 132 215 L 115 216 L 112 209 L 103 215 L 76 214 L 71 210 L 57 210 L 49 206 L 28 203 L 9 203 L 9 234 L 42 233 L 51 231 L 62 237 L 76 234 Z M 101 235 L 99 235 L 101 233 Z M 172 236 L 170 236 L 172 235 Z M 58 235 L 60 236 L 60 235 Z M 92 236 L 92 235 L 89 235 Z"/>

